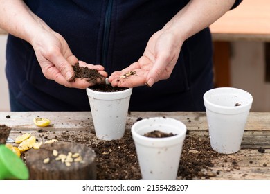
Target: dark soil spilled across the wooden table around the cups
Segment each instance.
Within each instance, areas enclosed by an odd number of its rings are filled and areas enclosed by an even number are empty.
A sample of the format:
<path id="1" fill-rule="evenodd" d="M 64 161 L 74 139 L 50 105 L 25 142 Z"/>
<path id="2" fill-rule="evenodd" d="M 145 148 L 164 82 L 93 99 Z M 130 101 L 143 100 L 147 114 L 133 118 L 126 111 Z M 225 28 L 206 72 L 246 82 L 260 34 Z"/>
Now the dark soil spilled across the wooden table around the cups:
<path id="1" fill-rule="evenodd" d="M 138 120 L 140 119 L 138 118 Z M 80 123 L 80 125 L 93 129 L 92 121 Z M 39 141 L 57 139 L 58 141 L 80 143 L 92 148 L 96 152 L 97 179 L 136 180 L 142 178 L 130 130 L 125 131 L 122 139 L 112 141 L 97 139 L 94 130 L 74 133 L 66 131 L 58 135 L 55 135 L 53 131 L 43 130 L 38 132 L 36 137 Z M 24 154 L 22 158 L 24 158 Z M 226 155 L 219 154 L 210 147 L 208 135 L 198 136 L 188 130 L 183 143 L 177 179 L 210 179 L 210 177 L 218 176 L 221 172 L 211 169 L 217 165 L 217 161 L 224 161 L 227 158 Z M 237 166 L 237 164 L 233 164 L 233 166 Z"/>

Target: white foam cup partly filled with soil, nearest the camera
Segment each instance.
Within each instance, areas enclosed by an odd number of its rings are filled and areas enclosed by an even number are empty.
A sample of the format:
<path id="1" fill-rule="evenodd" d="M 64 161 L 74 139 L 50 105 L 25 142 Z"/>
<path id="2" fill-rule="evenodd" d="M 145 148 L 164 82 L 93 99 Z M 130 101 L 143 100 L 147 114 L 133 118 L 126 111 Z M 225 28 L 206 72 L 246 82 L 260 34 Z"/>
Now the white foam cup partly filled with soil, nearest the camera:
<path id="1" fill-rule="evenodd" d="M 145 118 L 134 123 L 132 138 L 142 178 L 177 179 L 185 137 L 186 125 L 174 118 Z"/>

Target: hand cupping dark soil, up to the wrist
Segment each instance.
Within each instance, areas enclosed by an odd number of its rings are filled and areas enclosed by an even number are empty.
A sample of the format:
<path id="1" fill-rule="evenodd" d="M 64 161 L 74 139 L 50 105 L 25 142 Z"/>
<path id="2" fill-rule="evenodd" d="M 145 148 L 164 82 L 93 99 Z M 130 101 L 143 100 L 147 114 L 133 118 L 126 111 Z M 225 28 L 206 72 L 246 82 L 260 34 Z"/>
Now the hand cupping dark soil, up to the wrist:
<path id="1" fill-rule="evenodd" d="M 78 62 L 78 58 L 72 54 L 62 35 L 55 33 L 53 30 L 43 30 L 42 33 L 33 38 L 31 44 L 46 78 L 55 80 L 60 85 L 79 89 L 85 89 L 96 83 L 105 82 L 105 78 L 98 78 L 96 82 L 88 82 L 87 79 L 81 78 L 76 78 L 75 80 L 72 65 Z M 97 69 L 102 76 L 107 77 L 107 73 L 101 65 L 87 64 L 82 61 L 79 64 L 81 67 Z"/>

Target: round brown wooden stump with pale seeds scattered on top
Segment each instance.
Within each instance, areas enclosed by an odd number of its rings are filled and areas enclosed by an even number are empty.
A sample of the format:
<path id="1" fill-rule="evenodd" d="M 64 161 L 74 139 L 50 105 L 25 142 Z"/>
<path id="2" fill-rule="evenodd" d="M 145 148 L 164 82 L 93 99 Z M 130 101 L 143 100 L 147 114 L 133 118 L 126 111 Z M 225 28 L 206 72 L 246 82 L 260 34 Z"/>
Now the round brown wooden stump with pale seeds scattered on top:
<path id="1" fill-rule="evenodd" d="M 69 152 L 79 153 L 83 162 L 73 161 L 66 166 L 61 160 L 56 160 L 53 150 L 58 155 L 68 155 Z M 48 164 L 44 159 L 50 158 Z M 87 146 L 69 142 L 43 144 L 39 150 L 26 152 L 26 165 L 30 179 L 34 180 L 89 180 L 96 179 L 96 153 Z"/>

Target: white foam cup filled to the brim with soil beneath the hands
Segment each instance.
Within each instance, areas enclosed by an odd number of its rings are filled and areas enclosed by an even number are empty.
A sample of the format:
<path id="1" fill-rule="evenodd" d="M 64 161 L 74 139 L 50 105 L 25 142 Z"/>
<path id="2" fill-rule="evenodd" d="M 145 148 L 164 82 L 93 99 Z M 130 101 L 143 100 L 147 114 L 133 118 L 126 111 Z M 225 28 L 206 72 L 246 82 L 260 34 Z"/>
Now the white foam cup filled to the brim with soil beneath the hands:
<path id="1" fill-rule="evenodd" d="M 95 85 L 87 88 L 87 95 L 98 139 L 121 139 L 125 133 L 132 88 Z"/>

